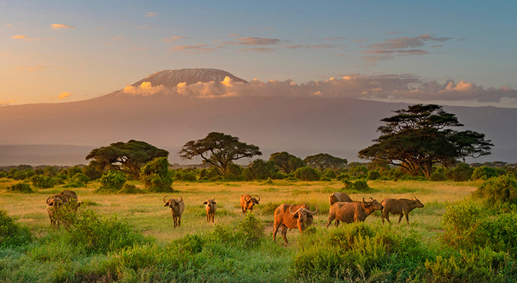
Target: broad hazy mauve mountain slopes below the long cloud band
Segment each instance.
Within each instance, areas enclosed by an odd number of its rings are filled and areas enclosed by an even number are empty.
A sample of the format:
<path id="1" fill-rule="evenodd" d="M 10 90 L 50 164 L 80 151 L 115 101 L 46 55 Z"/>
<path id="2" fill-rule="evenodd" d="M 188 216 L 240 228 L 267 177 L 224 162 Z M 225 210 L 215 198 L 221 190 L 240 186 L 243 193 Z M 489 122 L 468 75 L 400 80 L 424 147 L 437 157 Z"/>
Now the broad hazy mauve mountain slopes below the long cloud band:
<path id="1" fill-rule="evenodd" d="M 177 76 L 171 76 L 171 81 L 173 77 Z M 380 120 L 407 105 L 354 98 L 107 95 L 72 103 L 4 106 L 0 107 L 0 145 L 8 146 L 0 146 L 0 166 L 87 163 L 84 156 L 89 150 L 130 139 L 169 150 L 171 163 L 200 163 L 182 161 L 178 151 L 187 141 L 202 139 L 209 132 L 255 144 L 265 159 L 273 152 L 288 151 L 301 158 L 328 153 L 359 161 L 358 151 L 378 137 Z M 513 130 L 517 109 L 444 108 L 455 113 L 465 129 L 482 132 L 494 143 L 491 156 L 471 162 L 517 162 L 517 131 Z M 48 145 L 74 146 L 57 150 Z"/>

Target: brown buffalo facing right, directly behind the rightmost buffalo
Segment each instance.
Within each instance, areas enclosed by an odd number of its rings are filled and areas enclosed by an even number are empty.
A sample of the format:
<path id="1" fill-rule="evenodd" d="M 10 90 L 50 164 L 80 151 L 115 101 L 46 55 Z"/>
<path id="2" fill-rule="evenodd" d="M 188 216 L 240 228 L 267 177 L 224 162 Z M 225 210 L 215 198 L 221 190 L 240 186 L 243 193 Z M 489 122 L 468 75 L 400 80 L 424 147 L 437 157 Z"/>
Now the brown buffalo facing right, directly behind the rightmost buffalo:
<path id="1" fill-rule="evenodd" d="M 370 200 L 370 202 L 366 202 L 363 197 L 363 202 L 336 202 L 332 204 L 326 226 L 330 226 L 334 219 L 336 219 L 336 227 L 339 226 L 339 221 L 344 223 L 362 222 L 375 210 L 384 208 L 377 200 L 373 200 L 371 197 Z"/>

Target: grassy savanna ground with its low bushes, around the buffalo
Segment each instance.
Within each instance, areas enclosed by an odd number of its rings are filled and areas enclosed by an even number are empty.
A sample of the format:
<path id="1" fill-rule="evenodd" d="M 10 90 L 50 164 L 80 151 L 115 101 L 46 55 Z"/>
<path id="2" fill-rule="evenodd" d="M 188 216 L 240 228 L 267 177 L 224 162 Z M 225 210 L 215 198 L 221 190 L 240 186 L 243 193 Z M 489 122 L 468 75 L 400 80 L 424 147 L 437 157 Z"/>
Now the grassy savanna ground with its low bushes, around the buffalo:
<path id="1" fill-rule="evenodd" d="M 517 273 L 508 253 L 443 243 L 444 214 L 479 204 L 471 193 L 480 182 L 370 180 L 368 192 L 348 192 L 353 200 L 414 195 L 425 207 L 409 214 L 410 225 L 392 216 L 382 226 L 375 212 L 364 224 L 329 229 L 329 195 L 343 191 L 337 180 L 175 181 L 168 195 L 186 204 L 178 229 L 165 193 L 101 195 L 96 182 L 72 188 L 84 201 L 76 224 L 52 229 L 45 200 L 62 187 L 23 194 L 7 192 L 10 184 L 0 180 L 0 210 L 29 239 L 0 246 L 0 282 L 512 282 Z M 242 214 L 242 193 L 261 197 L 254 214 Z M 205 221 L 205 198 L 217 202 L 215 224 Z M 282 203 L 319 207 L 304 235 L 288 232 L 288 246 L 271 233 Z"/>

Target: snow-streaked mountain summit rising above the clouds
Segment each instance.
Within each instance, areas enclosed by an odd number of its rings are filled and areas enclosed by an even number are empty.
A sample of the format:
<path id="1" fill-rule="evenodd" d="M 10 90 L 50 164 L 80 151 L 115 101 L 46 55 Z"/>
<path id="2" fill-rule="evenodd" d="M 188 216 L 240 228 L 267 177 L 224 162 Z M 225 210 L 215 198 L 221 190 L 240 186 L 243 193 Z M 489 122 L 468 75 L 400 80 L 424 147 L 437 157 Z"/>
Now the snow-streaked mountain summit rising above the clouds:
<path id="1" fill-rule="evenodd" d="M 223 81 L 228 76 L 233 81 L 248 83 L 244 79 L 230 74 L 227 71 L 220 69 L 174 69 L 157 71 L 154 74 L 133 83 L 132 86 L 140 86 L 143 82 L 150 82 L 153 86 L 163 85 L 166 88 L 174 88 L 178 83 L 186 83 L 187 85 L 209 81 Z"/>

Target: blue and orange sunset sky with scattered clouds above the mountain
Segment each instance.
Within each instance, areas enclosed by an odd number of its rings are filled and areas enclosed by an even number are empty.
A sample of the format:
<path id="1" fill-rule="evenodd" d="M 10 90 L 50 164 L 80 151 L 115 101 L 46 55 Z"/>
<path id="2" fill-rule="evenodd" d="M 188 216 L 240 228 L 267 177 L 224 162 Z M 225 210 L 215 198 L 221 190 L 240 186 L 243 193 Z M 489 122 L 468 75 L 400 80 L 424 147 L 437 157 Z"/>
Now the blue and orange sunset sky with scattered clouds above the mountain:
<path id="1" fill-rule="evenodd" d="M 515 11 L 517 1 L 0 0 L 0 105 L 215 68 L 280 94 L 517 108 Z"/>

